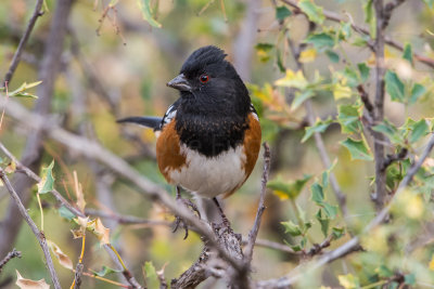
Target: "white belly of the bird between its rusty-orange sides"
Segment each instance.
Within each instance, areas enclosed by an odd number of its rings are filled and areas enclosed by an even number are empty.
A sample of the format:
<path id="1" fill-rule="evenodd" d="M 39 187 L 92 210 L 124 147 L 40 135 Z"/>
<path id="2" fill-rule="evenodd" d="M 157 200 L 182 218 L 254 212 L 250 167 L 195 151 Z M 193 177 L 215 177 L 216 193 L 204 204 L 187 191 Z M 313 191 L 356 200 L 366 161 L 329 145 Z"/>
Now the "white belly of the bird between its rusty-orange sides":
<path id="1" fill-rule="evenodd" d="M 232 192 L 246 178 L 246 159 L 241 145 L 213 158 L 207 158 L 186 145 L 181 146 L 181 153 L 187 156 L 187 166 L 173 170 L 169 176 L 176 185 L 202 197 L 213 198 Z"/>

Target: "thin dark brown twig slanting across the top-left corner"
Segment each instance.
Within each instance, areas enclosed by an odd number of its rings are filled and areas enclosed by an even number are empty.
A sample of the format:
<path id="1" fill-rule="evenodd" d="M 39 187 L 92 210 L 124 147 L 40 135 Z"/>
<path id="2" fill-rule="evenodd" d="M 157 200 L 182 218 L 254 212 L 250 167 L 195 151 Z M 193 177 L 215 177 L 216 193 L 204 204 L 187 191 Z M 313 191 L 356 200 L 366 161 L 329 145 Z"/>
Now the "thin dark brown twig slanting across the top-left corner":
<path id="1" fill-rule="evenodd" d="M 36 2 L 34 14 L 31 15 L 31 17 L 30 17 L 30 19 L 29 19 L 29 22 L 27 24 L 26 30 L 24 31 L 24 35 L 20 40 L 20 44 L 16 48 L 16 51 L 15 51 L 15 53 L 13 55 L 12 63 L 9 66 L 9 70 L 8 70 L 7 75 L 4 76 L 4 80 L 3 80 L 3 86 L 4 87 L 5 87 L 5 83 L 11 82 L 11 79 L 12 79 L 14 73 L 15 73 L 15 69 L 18 66 L 18 63 L 21 61 L 21 55 L 23 53 L 23 50 L 26 47 L 27 40 L 28 40 L 28 38 L 29 38 L 34 27 L 35 27 L 35 23 L 38 19 L 38 17 L 43 14 L 41 12 L 42 3 L 43 3 L 43 0 L 38 0 Z"/>

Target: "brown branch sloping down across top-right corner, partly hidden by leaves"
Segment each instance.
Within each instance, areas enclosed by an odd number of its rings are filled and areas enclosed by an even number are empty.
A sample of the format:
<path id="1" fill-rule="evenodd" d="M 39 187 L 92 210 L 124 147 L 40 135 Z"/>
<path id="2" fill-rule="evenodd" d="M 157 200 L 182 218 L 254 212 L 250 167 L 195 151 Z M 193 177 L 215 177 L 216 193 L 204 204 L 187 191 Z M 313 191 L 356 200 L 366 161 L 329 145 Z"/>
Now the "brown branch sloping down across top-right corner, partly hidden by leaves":
<path id="1" fill-rule="evenodd" d="M 289 5 L 292 6 L 292 8 L 297 9 L 297 11 L 302 12 L 301 9 L 299 9 L 299 5 L 298 5 L 298 1 L 296 1 L 296 0 L 281 0 L 281 1 L 282 1 L 283 3 L 289 4 Z M 331 11 L 328 11 L 328 10 L 323 10 L 323 11 L 322 11 L 322 14 L 324 15 L 324 17 L 326 17 L 327 19 L 332 21 L 332 22 L 348 23 L 347 19 L 345 19 L 344 17 L 342 17 L 342 16 L 341 16 L 340 14 L 337 14 L 337 13 L 334 13 L 334 12 L 331 12 Z M 368 28 L 358 26 L 358 25 L 354 24 L 353 22 L 350 22 L 350 25 L 352 25 L 352 28 L 353 28 L 355 31 L 357 31 L 358 34 L 367 35 L 367 36 L 370 35 Z M 385 43 L 386 43 L 387 45 L 391 45 L 391 47 L 393 47 L 393 48 L 395 48 L 395 49 L 397 49 L 397 50 L 399 50 L 399 51 L 404 51 L 403 44 L 396 42 L 396 41 L 393 40 L 391 37 L 387 37 L 387 36 L 386 36 L 386 37 L 384 38 L 384 41 L 385 41 Z M 421 63 L 423 63 L 423 64 L 425 64 L 425 65 L 427 65 L 427 66 L 434 68 L 434 60 L 433 60 L 433 58 L 430 58 L 430 57 L 424 56 L 424 55 L 422 55 L 422 54 L 419 54 L 419 53 L 417 53 L 417 52 L 414 52 L 413 55 L 414 55 L 414 58 L 418 60 L 419 62 L 421 62 Z"/>

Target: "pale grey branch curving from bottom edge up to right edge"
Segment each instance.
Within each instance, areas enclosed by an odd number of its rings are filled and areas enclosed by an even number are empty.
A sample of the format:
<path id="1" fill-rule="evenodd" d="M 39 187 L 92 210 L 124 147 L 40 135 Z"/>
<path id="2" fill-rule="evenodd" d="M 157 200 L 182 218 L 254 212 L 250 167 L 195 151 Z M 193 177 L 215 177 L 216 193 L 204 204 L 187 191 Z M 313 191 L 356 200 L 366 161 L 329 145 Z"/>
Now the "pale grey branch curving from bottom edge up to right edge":
<path id="1" fill-rule="evenodd" d="M 363 228 L 361 235 L 368 234 L 373 228 L 375 228 L 378 225 L 383 223 L 383 221 L 388 215 L 388 212 L 394 203 L 394 200 L 397 199 L 398 196 L 410 184 L 414 174 L 419 171 L 422 163 L 425 161 L 427 156 L 431 154 L 433 147 L 434 147 L 434 134 L 431 135 L 430 141 L 427 142 L 426 147 L 424 148 L 424 150 L 423 150 L 422 155 L 420 156 L 420 158 L 418 159 L 418 161 L 416 161 L 410 167 L 410 169 L 407 171 L 407 174 L 404 176 L 403 181 L 400 182 L 393 199 Z M 360 250 L 360 244 L 359 244 L 360 239 L 359 238 L 360 238 L 359 236 L 353 237 L 350 240 L 341 245 L 339 248 L 334 249 L 333 251 L 330 251 L 330 252 L 323 254 L 321 258 L 319 258 L 317 260 L 312 260 L 312 261 L 306 263 L 303 266 L 303 272 L 298 271 L 295 274 L 289 274 L 281 278 L 259 281 L 259 283 L 257 283 L 257 288 L 286 288 L 286 287 L 297 283 L 303 276 L 305 276 L 306 271 L 318 270 L 318 268 L 324 266 L 326 264 L 333 262 L 334 260 L 341 259 L 341 258 L 347 255 L 348 253 Z"/>

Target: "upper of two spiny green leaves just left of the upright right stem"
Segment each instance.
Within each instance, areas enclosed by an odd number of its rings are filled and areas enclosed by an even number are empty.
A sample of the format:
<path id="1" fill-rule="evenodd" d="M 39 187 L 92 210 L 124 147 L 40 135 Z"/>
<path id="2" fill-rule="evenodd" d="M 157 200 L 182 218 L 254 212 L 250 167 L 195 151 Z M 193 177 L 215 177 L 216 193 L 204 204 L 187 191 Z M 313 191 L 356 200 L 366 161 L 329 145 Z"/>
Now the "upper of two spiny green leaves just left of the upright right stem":
<path id="1" fill-rule="evenodd" d="M 342 133 L 359 133 L 363 126 L 360 121 L 360 104 L 358 105 L 340 105 L 337 107 L 337 122 L 341 124 Z"/>

